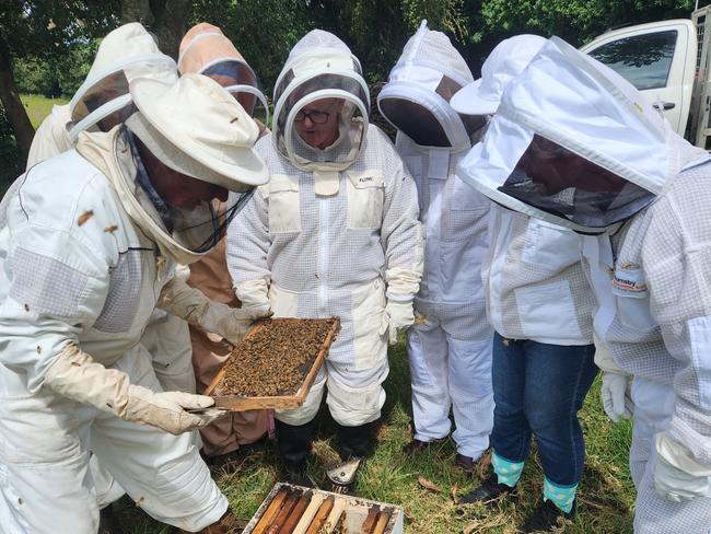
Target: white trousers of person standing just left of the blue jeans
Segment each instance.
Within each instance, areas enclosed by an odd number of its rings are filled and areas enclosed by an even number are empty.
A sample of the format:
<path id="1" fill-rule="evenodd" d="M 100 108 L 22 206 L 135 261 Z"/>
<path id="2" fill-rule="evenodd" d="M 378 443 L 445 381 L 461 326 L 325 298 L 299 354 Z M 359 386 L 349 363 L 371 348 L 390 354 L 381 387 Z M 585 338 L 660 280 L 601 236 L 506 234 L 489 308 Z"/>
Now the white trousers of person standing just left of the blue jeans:
<path id="1" fill-rule="evenodd" d="M 446 437 L 452 408 L 457 452 L 477 460 L 489 448 L 493 428 L 492 338 L 457 339 L 447 320 L 430 310 L 424 323 L 408 330 L 415 438 Z"/>

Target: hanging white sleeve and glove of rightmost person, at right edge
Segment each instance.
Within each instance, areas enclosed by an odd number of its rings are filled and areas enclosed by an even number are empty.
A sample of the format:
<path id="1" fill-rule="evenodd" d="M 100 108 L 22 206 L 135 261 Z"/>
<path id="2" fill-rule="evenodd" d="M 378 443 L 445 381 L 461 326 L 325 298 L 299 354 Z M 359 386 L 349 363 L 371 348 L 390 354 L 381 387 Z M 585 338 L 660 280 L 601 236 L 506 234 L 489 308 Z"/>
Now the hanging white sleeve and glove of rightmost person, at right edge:
<path id="1" fill-rule="evenodd" d="M 655 437 L 654 486 L 674 501 L 707 495 L 711 476 L 711 242 L 688 206 L 683 195 L 660 198 L 642 245 L 652 316 L 680 363 L 672 422 Z"/>

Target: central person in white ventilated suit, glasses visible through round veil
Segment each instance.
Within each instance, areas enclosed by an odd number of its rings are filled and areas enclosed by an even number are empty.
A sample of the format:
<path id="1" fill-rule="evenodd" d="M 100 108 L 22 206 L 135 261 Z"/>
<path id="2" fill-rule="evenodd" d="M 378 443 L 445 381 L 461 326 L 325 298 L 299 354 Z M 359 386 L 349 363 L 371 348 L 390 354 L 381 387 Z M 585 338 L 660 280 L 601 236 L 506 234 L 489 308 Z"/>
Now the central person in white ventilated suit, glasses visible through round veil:
<path id="1" fill-rule="evenodd" d="M 256 146 L 271 179 L 231 224 L 228 266 L 246 310 L 340 317 L 304 405 L 276 415 L 289 476 L 303 480 L 324 388 L 343 458 L 368 453 L 385 402 L 388 338 L 413 321 L 422 242 L 415 183 L 369 126 L 360 63 L 339 38 L 306 34 L 275 103 L 273 131 Z M 350 484 L 350 475 L 335 481 Z"/>

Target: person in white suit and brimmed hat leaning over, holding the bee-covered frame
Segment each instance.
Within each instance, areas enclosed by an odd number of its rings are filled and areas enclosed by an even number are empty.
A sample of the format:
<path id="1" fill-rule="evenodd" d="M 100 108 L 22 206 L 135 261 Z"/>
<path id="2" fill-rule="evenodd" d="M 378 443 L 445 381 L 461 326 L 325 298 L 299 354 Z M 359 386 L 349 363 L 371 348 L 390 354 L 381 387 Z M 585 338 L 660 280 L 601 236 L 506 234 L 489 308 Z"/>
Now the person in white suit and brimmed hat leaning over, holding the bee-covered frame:
<path id="1" fill-rule="evenodd" d="M 153 518 L 234 518 L 190 430 L 213 400 L 163 393 L 139 338 L 156 304 L 238 343 L 250 312 L 173 277 L 211 249 L 267 181 L 257 125 L 217 82 L 141 78 L 139 113 L 33 166 L 0 206 L 0 524 L 94 533 L 89 444 Z M 230 209 L 217 213 L 213 199 Z M 31 443 L 32 446 L 27 446 Z M 210 531 L 206 531 L 210 532 Z"/>

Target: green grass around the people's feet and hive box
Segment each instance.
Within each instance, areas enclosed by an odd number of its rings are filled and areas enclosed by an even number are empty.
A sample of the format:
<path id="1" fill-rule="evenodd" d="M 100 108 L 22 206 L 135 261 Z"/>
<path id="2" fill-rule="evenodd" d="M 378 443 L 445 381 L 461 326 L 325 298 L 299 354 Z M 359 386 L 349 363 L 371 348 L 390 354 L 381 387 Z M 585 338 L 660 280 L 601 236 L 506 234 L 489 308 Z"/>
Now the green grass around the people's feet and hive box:
<path id="1" fill-rule="evenodd" d="M 452 440 L 404 457 L 403 445 L 409 440 L 410 387 L 407 356 L 403 343 L 391 350 L 391 375 L 386 383 L 387 403 L 384 425 L 377 434 L 374 456 L 359 476 L 357 492 L 368 499 L 399 504 L 405 509 L 405 531 L 411 534 L 501 533 L 515 532 L 540 500 L 543 473 L 534 454 L 520 483 L 516 502 L 501 502 L 491 511 L 481 507 L 454 504 L 452 494 L 462 496 L 489 475 L 485 460 L 474 478 L 466 478 L 454 466 L 456 449 Z M 324 466 L 335 461 L 334 427 L 322 407 L 317 440 L 314 443 L 310 474 L 323 480 Z M 599 380 L 595 381 L 581 419 L 586 439 L 586 465 L 579 490 L 578 519 L 564 527 L 575 534 L 623 534 L 632 532 L 634 490 L 627 466 L 630 444 L 628 421 L 613 425 L 599 404 Z M 534 446 L 535 451 L 535 446 Z M 279 479 L 280 464 L 273 444 L 241 461 L 234 473 L 213 471 L 220 488 L 237 516 L 248 519 Z M 422 488 L 422 476 L 442 488 L 441 492 Z M 328 489 L 325 487 L 324 489 Z M 171 527 L 150 520 L 128 499 L 116 506 L 127 533 L 171 533 Z M 561 531 L 562 532 L 562 531 Z"/>

